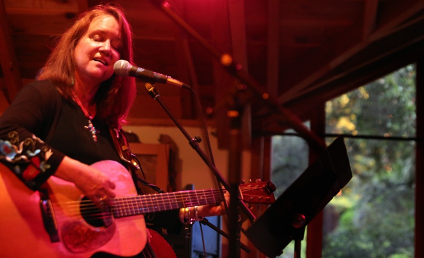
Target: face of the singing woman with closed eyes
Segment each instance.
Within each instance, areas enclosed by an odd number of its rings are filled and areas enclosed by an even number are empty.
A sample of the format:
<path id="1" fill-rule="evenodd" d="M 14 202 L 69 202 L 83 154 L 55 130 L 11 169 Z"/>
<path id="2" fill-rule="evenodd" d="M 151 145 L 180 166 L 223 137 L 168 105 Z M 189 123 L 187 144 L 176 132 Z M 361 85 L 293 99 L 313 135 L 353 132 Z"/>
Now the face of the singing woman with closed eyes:
<path id="1" fill-rule="evenodd" d="M 76 77 L 83 83 L 99 85 L 109 79 L 120 58 L 121 32 L 111 15 L 94 18 L 75 47 Z"/>

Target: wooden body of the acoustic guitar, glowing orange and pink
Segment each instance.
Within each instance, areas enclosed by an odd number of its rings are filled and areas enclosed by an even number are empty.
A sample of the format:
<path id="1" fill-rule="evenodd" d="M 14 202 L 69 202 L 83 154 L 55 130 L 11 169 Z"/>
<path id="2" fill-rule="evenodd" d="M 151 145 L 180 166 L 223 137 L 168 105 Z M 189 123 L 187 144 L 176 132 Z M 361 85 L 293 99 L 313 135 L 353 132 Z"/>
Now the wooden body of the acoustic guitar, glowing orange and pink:
<path id="1" fill-rule="evenodd" d="M 130 173 L 119 163 L 92 165 L 116 184 L 117 197 L 137 195 Z M 142 251 L 147 233 L 143 215 L 112 218 L 108 226 L 92 226 L 81 215 L 81 192 L 73 183 L 51 176 L 48 191 L 59 241 L 44 228 L 40 194 L 28 189 L 0 163 L 0 256 L 84 258 L 96 252 L 133 256 Z"/>

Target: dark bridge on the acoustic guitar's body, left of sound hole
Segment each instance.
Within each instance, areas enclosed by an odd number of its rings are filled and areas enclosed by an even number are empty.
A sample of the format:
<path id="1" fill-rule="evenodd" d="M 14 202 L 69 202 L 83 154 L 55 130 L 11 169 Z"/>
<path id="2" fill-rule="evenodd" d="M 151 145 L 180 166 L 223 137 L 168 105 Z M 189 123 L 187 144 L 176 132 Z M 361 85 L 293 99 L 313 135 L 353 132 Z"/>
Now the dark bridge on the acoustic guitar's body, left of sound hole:
<path id="1" fill-rule="evenodd" d="M 40 209 L 41 216 L 43 218 L 44 228 L 50 236 L 52 243 L 59 242 L 59 234 L 57 231 L 57 223 L 54 216 L 54 210 L 51 205 L 51 201 L 48 198 L 46 189 L 40 189 Z"/>

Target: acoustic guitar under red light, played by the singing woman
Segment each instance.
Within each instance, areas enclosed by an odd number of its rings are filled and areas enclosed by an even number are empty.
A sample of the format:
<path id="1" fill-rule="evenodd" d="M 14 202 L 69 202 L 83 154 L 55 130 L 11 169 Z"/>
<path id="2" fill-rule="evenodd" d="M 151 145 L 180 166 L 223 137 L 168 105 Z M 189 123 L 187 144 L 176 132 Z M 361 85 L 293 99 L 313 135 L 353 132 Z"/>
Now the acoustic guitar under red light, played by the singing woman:
<path id="1" fill-rule="evenodd" d="M 116 184 L 112 205 L 99 208 L 73 183 L 51 176 L 32 191 L 0 163 L 0 257 L 86 258 L 97 252 L 139 254 L 147 242 L 143 214 L 220 203 L 219 189 L 137 195 L 130 173 L 114 161 L 91 165 Z M 269 182 L 239 186 L 250 203 L 275 201 Z"/>

